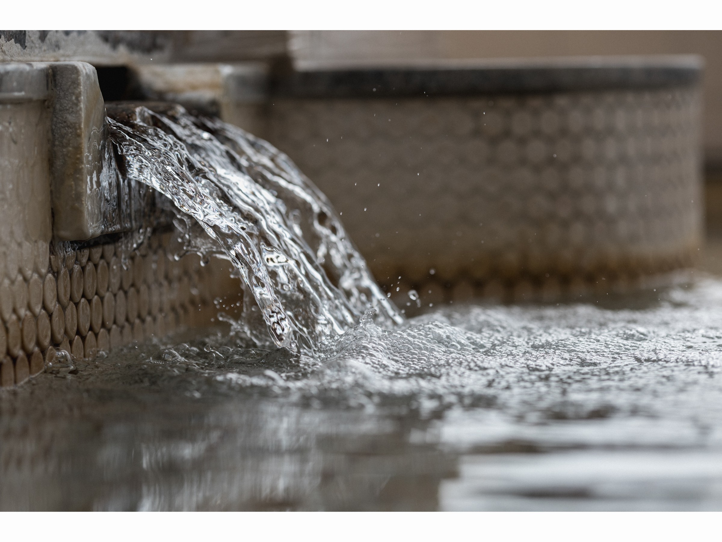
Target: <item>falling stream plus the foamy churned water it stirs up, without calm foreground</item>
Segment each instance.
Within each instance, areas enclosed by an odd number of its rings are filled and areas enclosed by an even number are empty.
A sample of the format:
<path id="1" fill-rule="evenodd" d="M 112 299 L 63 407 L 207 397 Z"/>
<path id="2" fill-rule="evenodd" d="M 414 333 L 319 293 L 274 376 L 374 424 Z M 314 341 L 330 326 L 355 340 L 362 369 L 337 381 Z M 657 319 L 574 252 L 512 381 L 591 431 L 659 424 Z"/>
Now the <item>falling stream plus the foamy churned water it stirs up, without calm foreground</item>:
<path id="1" fill-rule="evenodd" d="M 722 402 L 710 401 L 705 412 L 698 403 L 700 394 L 722 397 L 716 280 L 640 294 L 643 311 L 469 306 L 404 321 L 323 194 L 268 143 L 179 106 L 138 107 L 109 125 L 123 175 L 192 218 L 188 243 L 222 249 L 252 294 L 243 331 L 259 349 L 220 337 L 201 349 L 161 350 L 159 364 L 190 364 L 214 386 L 300 403 L 373 408 L 404 398 L 432 410 L 490 407 L 530 423 L 687 416 L 701 433 L 718 425 Z M 199 244 L 195 223 L 215 244 Z M 274 342 L 259 332 L 256 304 Z"/>

